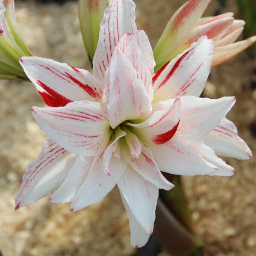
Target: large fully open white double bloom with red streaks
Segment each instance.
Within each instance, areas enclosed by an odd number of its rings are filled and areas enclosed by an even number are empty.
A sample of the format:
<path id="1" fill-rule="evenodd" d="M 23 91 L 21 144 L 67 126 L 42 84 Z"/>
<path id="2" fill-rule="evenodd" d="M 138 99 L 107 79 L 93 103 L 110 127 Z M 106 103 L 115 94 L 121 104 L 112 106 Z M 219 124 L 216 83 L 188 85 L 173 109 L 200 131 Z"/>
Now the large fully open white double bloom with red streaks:
<path id="1" fill-rule="evenodd" d="M 23 176 L 16 209 L 50 194 L 71 211 L 100 202 L 117 184 L 143 246 L 153 231 L 161 171 L 230 176 L 216 153 L 239 159 L 251 151 L 225 116 L 234 97 L 199 98 L 213 42 L 200 38 L 154 74 L 152 48 L 135 23 L 135 4 L 111 0 L 101 22 L 93 74 L 64 63 L 24 57 L 21 65 L 48 107 L 32 115 L 49 136 Z"/>

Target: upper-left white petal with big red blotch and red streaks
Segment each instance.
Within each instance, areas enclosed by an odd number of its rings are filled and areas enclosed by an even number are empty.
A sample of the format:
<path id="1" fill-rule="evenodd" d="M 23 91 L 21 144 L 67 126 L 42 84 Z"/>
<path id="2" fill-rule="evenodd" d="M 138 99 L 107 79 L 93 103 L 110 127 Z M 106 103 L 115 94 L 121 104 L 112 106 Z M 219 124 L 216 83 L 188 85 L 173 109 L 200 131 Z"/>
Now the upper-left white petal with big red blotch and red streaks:
<path id="1" fill-rule="evenodd" d="M 86 70 L 40 57 L 22 57 L 20 64 L 48 106 L 102 97 L 103 83 Z"/>

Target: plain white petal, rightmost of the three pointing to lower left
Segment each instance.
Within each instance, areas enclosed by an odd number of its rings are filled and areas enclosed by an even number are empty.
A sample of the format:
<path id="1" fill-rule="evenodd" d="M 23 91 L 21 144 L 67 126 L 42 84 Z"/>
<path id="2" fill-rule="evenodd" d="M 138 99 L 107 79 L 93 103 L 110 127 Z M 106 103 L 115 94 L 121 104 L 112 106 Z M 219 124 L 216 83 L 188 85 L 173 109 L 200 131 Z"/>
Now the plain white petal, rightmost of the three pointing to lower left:
<path id="1" fill-rule="evenodd" d="M 86 180 L 72 199 L 71 211 L 77 211 L 86 206 L 101 202 L 123 175 L 127 163 L 122 157 L 111 158 L 109 166 L 111 170 L 110 176 L 103 172 L 102 160 L 105 148 L 106 145 L 95 156 Z"/>

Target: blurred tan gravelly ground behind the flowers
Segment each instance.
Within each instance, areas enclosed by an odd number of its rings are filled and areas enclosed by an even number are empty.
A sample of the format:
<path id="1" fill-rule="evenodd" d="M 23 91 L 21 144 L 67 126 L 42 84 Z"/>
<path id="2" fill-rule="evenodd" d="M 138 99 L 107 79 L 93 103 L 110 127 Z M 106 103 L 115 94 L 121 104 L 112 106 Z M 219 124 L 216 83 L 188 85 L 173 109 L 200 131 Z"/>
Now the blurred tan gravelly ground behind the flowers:
<path id="1" fill-rule="evenodd" d="M 171 15 L 185 1 L 135 2 L 138 26 L 146 31 L 154 46 Z M 76 1 L 16 1 L 15 4 L 19 27 L 33 55 L 89 68 Z M 212 0 L 204 16 L 232 11 L 236 18 L 248 17 L 249 27 L 245 27 L 248 37 L 256 34 L 253 7 L 254 0 Z M 228 118 L 255 153 L 253 49 L 213 68 L 204 96 L 236 96 L 236 105 Z M 50 204 L 48 198 L 14 210 L 14 197 L 22 175 L 37 158 L 46 138 L 34 122 L 30 108 L 43 105 L 31 83 L 0 81 L 0 250 L 3 255 L 134 255 L 136 251 L 130 245 L 127 217 L 117 189 L 102 203 L 78 212 L 71 213 L 68 204 Z M 256 254 L 255 160 L 225 161 L 235 168 L 233 177 L 182 177 L 196 231 L 206 243 L 201 255 L 253 256 Z M 163 250 L 158 255 L 169 254 Z"/>

